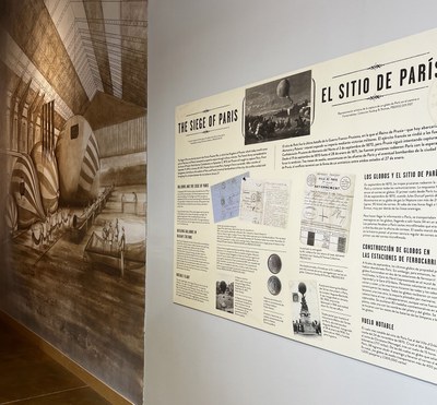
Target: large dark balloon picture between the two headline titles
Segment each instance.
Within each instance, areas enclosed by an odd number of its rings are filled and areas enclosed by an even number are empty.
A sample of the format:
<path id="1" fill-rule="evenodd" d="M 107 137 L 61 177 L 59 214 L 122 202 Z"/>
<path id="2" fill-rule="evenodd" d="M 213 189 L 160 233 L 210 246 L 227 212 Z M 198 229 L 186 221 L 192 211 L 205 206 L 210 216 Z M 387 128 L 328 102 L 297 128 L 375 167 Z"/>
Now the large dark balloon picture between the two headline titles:
<path id="1" fill-rule="evenodd" d="M 246 90 L 245 144 L 310 134 L 311 71 Z"/>

